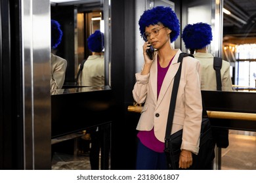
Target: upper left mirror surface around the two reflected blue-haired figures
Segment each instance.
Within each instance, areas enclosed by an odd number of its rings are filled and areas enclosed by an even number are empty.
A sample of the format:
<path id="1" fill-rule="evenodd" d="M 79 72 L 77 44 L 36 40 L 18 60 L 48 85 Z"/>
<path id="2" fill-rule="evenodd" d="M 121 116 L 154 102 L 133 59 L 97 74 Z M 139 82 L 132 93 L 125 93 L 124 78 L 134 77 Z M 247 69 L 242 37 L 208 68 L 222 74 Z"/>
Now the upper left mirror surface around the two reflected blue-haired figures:
<path id="1" fill-rule="evenodd" d="M 109 11 L 110 1 L 51 0 L 51 19 L 57 20 L 63 31 L 62 42 L 58 46 L 58 49 L 56 49 L 55 54 L 56 56 L 66 59 L 68 63 L 62 89 L 75 88 L 77 86 L 79 65 L 93 54 L 89 49 L 87 40 L 96 30 L 100 30 L 100 32 L 104 34 L 103 42 L 105 43 L 104 49 L 101 52 L 102 55 L 104 53 L 102 62 L 102 66 L 104 67 L 104 75 L 102 78 L 104 81 L 103 84 L 100 85 L 109 85 Z M 96 84 L 96 86 L 98 85 L 99 84 Z M 54 94 L 58 94 L 59 92 L 60 90 L 58 90 L 58 92 L 56 91 Z"/>

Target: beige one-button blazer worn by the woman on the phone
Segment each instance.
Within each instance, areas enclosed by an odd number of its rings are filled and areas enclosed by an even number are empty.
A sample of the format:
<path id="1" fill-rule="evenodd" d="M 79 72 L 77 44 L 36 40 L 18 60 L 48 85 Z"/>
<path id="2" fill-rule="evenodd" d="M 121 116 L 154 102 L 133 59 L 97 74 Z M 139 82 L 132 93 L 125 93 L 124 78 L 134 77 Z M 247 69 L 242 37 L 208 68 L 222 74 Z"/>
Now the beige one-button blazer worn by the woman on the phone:
<path id="1" fill-rule="evenodd" d="M 165 75 L 161 91 L 157 99 L 157 56 L 150 73 L 136 73 L 133 98 L 137 103 L 144 103 L 137 130 L 150 131 L 154 127 L 156 138 L 164 142 L 171 91 L 174 76 L 179 69 L 177 63 L 181 50 L 173 58 Z M 173 117 L 172 133 L 183 129 L 181 149 L 198 154 L 200 129 L 202 123 L 202 96 L 200 90 L 200 62 L 192 57 L 185 57 L 182 63 L 181 80 L 177 93 L 177 103 Z"/>

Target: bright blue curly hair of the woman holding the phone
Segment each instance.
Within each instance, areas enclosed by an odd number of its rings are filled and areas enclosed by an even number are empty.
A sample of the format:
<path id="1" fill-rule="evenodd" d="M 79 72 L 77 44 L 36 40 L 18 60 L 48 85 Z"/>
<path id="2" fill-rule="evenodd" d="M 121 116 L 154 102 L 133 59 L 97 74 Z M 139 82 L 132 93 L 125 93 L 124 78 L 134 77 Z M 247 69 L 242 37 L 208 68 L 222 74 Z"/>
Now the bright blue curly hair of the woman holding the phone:
<path id="1" fill-rule="evenodd" d="M 149 25 L 163 24 L 163 26 L 171 29 L 171 42 L 175 41 L 180 34 L 180 23 L 175 12 L 170 7 L 154 7 L 150 10 L 145 10 L 140 16 L 140 35 L 145 32 L 145 28 Z M 146 40 L 144 40 L 146 41 Z"/>

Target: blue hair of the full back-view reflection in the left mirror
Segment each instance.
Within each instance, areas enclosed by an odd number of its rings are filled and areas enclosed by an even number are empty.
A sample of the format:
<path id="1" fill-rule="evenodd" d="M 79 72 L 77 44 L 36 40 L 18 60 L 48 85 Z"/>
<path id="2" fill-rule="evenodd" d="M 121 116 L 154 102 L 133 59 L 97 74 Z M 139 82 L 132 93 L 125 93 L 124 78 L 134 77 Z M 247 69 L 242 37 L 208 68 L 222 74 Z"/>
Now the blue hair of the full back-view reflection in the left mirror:
<path id="1" fill-rule="evenodd" d="M 104 48 L 104 34 L 100 30 L 96 30 L 95 33 L 90 35 L 87 41 L 91 52 L 102 52 Z"/>

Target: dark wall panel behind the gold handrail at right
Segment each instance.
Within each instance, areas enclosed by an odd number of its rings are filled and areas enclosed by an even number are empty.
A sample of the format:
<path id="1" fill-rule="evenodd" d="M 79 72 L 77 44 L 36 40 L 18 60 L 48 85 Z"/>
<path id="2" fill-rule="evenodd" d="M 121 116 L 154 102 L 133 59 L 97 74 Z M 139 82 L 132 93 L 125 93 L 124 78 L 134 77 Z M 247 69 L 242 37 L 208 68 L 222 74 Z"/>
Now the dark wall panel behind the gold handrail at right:
<path id="1" fill-rule="evenodd" d="M 256 93 L 202 91 L 206 110 L 256 113 Z M 256 131 L 255 121 L 211 118 L 215 127 Z"/>

